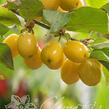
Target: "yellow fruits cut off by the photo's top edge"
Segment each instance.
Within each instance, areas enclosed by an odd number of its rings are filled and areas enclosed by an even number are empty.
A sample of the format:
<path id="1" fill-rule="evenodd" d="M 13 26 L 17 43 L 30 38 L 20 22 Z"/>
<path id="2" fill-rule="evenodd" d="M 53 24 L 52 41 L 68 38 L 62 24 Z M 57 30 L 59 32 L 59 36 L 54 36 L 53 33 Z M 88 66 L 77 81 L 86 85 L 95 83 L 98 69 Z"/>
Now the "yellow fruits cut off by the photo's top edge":
<path id="1" fill-rule="evenodd" d="M 45 9 L 59 10 L 61 12 L 72 11 L 82 6 L 81 0 L 41 0 Z"/>

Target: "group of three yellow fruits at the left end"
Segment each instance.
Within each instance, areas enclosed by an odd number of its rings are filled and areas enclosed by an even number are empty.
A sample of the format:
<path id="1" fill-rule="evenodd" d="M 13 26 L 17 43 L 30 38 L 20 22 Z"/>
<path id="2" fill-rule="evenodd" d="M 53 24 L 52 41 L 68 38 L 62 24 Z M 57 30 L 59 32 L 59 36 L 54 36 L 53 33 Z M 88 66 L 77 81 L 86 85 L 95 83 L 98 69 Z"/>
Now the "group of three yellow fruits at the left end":
<path id="1" fill-rule="evenodd" d="M 11 34 L 3 43 L 9 46 L 13 58 L 20 54 L 29 68 L 37 69 L 42 66 L 43 63 L 40 59 L 41 50 L 33 34 L 28 32 L 24 32 L 20 36 Z"/>

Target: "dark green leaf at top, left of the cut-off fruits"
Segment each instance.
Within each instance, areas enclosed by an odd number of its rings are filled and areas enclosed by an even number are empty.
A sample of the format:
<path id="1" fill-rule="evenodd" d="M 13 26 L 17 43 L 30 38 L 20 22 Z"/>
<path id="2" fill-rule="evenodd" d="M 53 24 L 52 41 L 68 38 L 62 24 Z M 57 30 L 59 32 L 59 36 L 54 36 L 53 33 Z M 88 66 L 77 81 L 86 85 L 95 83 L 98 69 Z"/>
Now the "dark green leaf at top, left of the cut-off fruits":
<path id="1" fill-rule="evenodd" d="M 33 20 L 41 16 L 43 5 L 39 0 L 21 0 L 20 15 L 27 20 Z"/>

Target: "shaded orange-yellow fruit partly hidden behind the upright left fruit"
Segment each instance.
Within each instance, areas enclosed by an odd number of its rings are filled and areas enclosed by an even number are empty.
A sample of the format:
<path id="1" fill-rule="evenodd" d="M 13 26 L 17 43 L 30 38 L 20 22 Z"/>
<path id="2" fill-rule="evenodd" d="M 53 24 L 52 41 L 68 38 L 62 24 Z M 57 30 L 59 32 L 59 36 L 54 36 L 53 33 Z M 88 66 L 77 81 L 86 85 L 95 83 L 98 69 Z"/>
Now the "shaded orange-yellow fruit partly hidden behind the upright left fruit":
<path id="1" fill-rule="evenodd" d="M 42 66 L 42 61 L 40 58 L 41 51 L 38 49 L 37 53 L 29 58 L 24 58 L 24 63 L 30 68 L 30 69 L 38 69 Z"/>

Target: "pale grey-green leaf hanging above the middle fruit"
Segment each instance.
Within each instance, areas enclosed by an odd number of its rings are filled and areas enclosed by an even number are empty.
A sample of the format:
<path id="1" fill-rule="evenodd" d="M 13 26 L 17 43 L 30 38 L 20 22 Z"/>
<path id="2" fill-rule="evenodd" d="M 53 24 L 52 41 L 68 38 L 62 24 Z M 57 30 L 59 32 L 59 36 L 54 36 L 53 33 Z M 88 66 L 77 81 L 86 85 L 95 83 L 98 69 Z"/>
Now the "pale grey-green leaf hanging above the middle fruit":
<path id="1" fill-rule="evenodd" d="M 51 25 L 50 32 L 58 32 L 68 22 L 70 15 L 53 10 L 44 10 L 43 16 Z"/>

